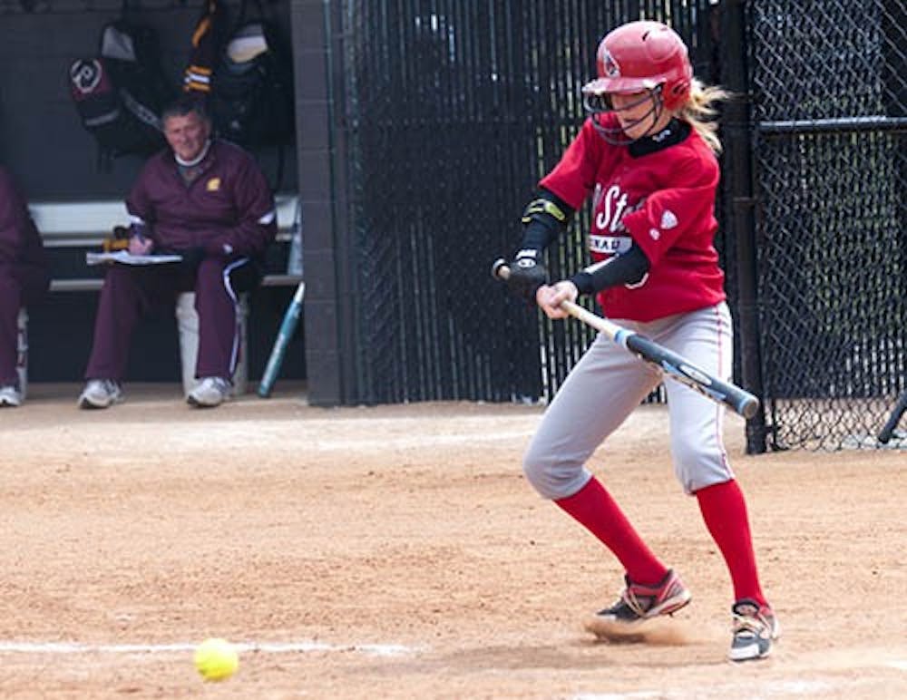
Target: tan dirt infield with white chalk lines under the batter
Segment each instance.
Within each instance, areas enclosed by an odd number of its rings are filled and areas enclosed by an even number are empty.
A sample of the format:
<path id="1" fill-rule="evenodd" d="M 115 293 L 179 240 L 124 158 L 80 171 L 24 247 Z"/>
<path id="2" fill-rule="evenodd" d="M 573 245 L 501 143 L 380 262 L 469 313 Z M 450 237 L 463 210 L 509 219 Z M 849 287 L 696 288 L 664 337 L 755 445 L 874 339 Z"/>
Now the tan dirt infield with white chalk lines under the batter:
<path id="1" fill-rule="evenodd" d="M 659 644 L 618 646 L 580 625 L 616 561 L 520 471 L 541 408 L 127 391 L 80 412 L 78 387 L 38 385 L 0 412 L 0 696 L 907 696 L 903 451 L 746 457 L 728 420 L 784 634 L 732 666 L 730 584 L 661 407 L 590 467 L 694 599 Z M 190 660 L 212 636 L 242 645 L 217 685 Z"/>

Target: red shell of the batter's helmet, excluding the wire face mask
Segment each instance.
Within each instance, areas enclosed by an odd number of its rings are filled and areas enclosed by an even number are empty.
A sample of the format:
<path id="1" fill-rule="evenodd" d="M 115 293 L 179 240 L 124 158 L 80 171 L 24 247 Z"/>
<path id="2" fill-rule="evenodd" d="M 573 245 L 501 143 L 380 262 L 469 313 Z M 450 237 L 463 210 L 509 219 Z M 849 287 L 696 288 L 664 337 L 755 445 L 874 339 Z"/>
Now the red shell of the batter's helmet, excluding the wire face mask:
<path id="1" fill-rule="evenodd" d="M 585 95 L 641 92 L 661 86 L 668 110 L 687 102 L 693 66 L 687 45 L 667 24 L 639 21 L 605 35 L 596 53 L 599 77 L 583 86 Z"/>

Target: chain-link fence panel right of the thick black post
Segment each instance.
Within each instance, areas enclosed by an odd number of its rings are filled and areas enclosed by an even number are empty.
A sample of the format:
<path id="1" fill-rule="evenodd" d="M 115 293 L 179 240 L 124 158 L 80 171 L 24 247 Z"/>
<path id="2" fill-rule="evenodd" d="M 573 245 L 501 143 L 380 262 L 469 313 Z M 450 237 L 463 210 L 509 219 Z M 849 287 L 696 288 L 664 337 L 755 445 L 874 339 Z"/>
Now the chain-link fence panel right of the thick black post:
<path id="1" fill-rule="evenodd" d="M 749 4 L 772 446 L 874 445 L 907 377 L 903 2 Z"/>

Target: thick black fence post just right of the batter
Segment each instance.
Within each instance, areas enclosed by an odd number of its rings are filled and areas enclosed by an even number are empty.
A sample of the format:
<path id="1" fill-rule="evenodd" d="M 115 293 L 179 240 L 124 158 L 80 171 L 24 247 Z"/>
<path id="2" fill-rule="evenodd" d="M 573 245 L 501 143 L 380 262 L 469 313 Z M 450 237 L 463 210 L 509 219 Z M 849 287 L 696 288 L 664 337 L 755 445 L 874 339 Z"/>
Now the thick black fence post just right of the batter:
<path id="1" fill-rule="evenodd" d="M 736 250 L 737 335 L 743 384 L 761 401 L 765 399 L 759 335 L 759 299 L 756 266 L 756 200 L 753 193 L 751 95 L 746 73 L 746 0 L 731 0 L 721 13 L 722 83 L 733 92 L 727 102 L 723 131 L 727 143 L 725 178 L 730 203 L 727 221 Z M 746 452 L 766 452 L 766 409 L 746 421 Z"/>

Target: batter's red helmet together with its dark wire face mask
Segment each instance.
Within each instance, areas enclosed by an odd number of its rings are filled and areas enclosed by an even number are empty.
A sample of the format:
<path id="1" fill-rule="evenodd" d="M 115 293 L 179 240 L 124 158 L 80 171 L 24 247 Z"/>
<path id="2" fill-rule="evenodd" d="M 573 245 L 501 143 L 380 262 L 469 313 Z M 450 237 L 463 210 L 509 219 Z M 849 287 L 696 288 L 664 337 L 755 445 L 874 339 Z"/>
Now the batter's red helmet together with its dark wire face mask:
<path id="1" fill-rule="evenodd" d="M 632 129 L 649 117 L 654 126 L 666 110 L 678 110 L 689 98 L 693 67 L 687 46 L 667 24 L 640 21 L 619 26 L 601 40 L 596 63 L 598 78 L 583 86 L 583 106 L 607 141 L 635 141 L 600 124 L 599 114 L 615 111 L 611 94 L 647 93 L 639 102 L 624 105 L 621 111 L 646 100 L 652 102 L 649 112 L 625 122 L 619 131 Z"/>

